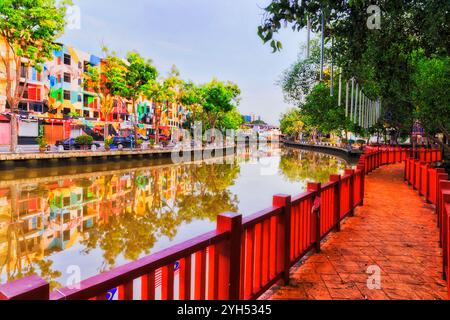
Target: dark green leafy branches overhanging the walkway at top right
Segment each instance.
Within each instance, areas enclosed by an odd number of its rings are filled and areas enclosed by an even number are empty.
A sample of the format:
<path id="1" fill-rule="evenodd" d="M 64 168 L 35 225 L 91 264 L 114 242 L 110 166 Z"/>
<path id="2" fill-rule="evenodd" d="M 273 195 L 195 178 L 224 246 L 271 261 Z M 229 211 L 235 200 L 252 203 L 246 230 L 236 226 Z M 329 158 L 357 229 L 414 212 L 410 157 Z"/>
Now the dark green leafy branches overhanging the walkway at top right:
<path id="1" fill-rule="evenodd" d="M 366 95 L 380 97 L 382 121 L 407 133 L 414 121 L 411 95 L 410 54 L 423 48 L 425 55 L 447 55 L 450 50 L 447 1 L 381 1 L 381 29 L 367 28 L 368 4 L 364 1 L 308 2 L 274 0 L 265 8 L 258 34 L 274 51 L 282 48 L 277 31 L 290 24 L 296 31 L 309 17 L 314 32 L 320 32 L 324 13 L 325 39 L 333 39 L 332 57 L 342 67 L 344 79 L 356 77 Z"/>

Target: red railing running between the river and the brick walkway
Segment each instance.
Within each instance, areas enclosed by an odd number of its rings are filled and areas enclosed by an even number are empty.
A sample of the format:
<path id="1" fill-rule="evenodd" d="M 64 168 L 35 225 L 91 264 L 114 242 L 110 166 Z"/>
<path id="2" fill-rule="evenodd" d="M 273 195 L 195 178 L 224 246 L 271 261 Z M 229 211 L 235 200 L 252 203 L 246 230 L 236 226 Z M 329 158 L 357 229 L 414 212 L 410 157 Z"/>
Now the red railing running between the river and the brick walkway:
<path id="1" fill-rule="evenodd" d="M 105 300 L 114 288 L 119 300 L 256 299 L 278 281 L 287 283 L 290 268 L 311 250 L 320 251 L 321 241 L 363 205 L 365 173 L 406 160 L 407 154 L 368 148 L 356 170 L 333 175 L 325 185 L 310 183 L 295 197 L 274 196 L 272 207 L 254 215 L 221 214 L 216 230 L 74 288 L 49 292 L 48 283 L 36 276 L 11 282 L 0 286 L 0 300 Z"/>

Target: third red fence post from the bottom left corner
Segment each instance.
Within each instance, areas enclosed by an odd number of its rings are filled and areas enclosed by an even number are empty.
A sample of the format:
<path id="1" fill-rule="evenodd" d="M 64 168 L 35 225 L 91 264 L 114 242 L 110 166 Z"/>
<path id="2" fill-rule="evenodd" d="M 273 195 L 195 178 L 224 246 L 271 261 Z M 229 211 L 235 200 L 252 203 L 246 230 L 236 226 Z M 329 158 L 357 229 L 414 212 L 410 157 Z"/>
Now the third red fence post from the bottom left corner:
<path id="1" fill-rule="evenodd" d="M 289 284 L 290 269 L 291 269 L 291 196 L 276 195 L 273 197 L 273 205 L 275 207 L 283 207 L 283 226 L 284 232 L 284 250 L 281 250 L 282 266 L 283 266 L 283 280 L 286 285 Z"/>

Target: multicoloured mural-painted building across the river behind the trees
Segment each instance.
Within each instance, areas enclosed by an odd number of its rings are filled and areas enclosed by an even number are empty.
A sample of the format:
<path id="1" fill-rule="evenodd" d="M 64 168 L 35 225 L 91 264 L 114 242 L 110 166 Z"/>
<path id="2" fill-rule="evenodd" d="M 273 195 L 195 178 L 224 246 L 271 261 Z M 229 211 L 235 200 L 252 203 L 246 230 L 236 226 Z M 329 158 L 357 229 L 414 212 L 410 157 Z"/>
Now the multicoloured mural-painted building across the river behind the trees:
<path id="1" fill-rule="evenodd" d="M 0 42 L 0 54 L 4 56 L 5 43 Z M 14 65 L 12 63 L 11 65 Z M 83 76 L 88 66 L 101 68 L 102 59 L 75 48 L 62 45 L 54 51 L 53 58 L 36 68 L 21 66 L 23 85 L 26 84 L 23 99 L 19 104 L 19 144 L 35 144 L 43 135 L 49 144 L 58 140 L 89 134 L 95 140 L 103 140 L 106 124 L 109 133 L 127 136 L 134 130 L 133 107 L 125 99 L 117 99 L 114 108 L 106 117 L 101 110 L 97 95 L 84 83 Z M 6 103 L 6 72 L 0 67 L 0 145 L 10 143 L 11 112 Z M 25 78 L 28 80 L 25 81 Z M 141 99 L 137 107 L 139 133 L 148 137 L 154 135 L 155 109 L 153 104 Z M 159 133 L 170 137 L 181 128 L 184 119 L 183 108 L 176 104 L 162 110 Z"/>

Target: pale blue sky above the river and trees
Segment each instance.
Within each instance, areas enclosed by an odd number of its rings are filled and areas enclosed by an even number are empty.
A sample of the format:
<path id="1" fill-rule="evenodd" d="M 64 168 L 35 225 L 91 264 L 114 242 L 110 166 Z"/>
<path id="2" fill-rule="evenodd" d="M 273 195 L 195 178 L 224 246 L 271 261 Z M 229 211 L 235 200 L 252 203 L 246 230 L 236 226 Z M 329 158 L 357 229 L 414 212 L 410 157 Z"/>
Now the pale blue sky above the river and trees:
<path id="1" fill-rule="evenodd" d="M 272 53 L 257 35 L 269 0 L 74 0 L 80 28 L 68 28 L 64 44 L 101 55 L 138 51 L 161 75 L 176 65 L 185 80 L 230 80 L 242 90 L 239 111 L 278 124 L 285 103 L 280 76 L 298 56 L 305 32 L 282 30 L 283 50 Z"/>

